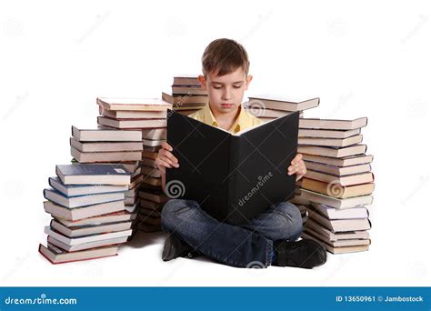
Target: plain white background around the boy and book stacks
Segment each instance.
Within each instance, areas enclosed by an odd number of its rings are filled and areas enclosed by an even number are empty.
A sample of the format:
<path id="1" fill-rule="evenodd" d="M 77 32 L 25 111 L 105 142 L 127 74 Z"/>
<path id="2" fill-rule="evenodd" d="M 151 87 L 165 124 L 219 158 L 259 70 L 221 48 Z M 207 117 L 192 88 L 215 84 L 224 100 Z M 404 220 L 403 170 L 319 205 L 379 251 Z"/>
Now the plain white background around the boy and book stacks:
<path id="1" fill-rule="evenodd" d="M 426 1 L 2 1 L 0 285 L 429 286 L 430 15 Z M 119 256 L 48 263 L 42 191 L 71 158 L 70 126 L 95 125 L 96 96 L 160 96 L 199 73 L 219 37 L 245 45 L 248 95 L 319 96 L 306 117 L 368 116 L 370 250 L 313 270 L 238 269 L 164 263 L 164 236 L 140 235 Z"/>

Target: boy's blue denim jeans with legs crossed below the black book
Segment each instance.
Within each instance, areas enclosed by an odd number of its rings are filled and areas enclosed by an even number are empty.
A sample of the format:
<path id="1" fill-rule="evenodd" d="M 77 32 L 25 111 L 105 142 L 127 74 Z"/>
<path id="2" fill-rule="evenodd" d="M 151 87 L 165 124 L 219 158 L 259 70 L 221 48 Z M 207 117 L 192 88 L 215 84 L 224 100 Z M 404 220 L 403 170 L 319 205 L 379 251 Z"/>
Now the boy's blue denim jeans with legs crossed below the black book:
<path id="1" fill-rule="evenodd" d="M 299 209 L 288 202 L 234 226 L 209 216 L 194 200 L 172 199 L 163 207 L 162 229 L 225 265 L 266 267 L 271 265 L 273 242 L 295 241 L 303 226 Z"/>

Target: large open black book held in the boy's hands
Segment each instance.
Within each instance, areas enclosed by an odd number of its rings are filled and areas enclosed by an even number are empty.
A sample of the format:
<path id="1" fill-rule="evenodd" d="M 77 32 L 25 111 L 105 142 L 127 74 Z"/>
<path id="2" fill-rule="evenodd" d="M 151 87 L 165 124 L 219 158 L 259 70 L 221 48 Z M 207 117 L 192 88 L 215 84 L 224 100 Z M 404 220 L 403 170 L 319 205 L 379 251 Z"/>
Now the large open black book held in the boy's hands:
<path id="1" fill-rule="evenodd" d="M 299 113 L 238 134 L 169 111 L 167 143 L 178 168 L 166 169 L 165 192 L 195 200 L 219 221 L 233 225 L 294 196 Z"/>

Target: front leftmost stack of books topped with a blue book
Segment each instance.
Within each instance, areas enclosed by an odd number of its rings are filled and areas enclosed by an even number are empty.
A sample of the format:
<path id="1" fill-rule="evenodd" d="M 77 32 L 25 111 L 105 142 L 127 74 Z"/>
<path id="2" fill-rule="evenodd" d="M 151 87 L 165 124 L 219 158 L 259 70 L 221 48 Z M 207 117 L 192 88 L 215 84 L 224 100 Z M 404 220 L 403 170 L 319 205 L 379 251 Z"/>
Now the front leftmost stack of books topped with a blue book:
<path id="1" fill-rule="evenodd" d="M 132 234 L 125 211 L 130 174 L 124 166 L 65 165 L 55 167 L 44 190 L 46 246 L 39 252 L 51 263 L 115 256 Z"/>

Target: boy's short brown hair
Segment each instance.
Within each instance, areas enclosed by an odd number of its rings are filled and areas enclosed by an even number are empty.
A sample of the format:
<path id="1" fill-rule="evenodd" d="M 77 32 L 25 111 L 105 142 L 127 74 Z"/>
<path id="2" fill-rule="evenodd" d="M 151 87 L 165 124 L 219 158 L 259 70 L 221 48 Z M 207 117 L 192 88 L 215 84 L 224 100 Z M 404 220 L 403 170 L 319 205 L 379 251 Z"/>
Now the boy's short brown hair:
<path id="1" fill-rule="evenodd" d="M 216 76 L 233 73 L 239 67 L 248 75 L 250 62 L 243 45 L 231 39 L 216 39 L 206 46 L 202 55 L 202 72 L 206 76 L 215 73 Z"/>

